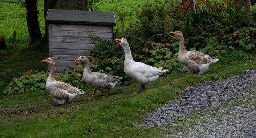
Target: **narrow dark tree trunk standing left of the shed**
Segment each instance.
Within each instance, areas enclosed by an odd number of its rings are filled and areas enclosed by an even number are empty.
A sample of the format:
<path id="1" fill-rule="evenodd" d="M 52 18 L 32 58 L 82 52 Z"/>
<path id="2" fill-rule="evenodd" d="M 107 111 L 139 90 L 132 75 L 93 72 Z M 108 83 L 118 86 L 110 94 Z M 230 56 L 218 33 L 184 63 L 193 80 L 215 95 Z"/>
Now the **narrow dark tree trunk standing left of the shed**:
<path id="1" fill-rule="evenodd" d="M 25 0 L 27 9 L 27 26 L 29 32 L 29 45 L 41 40 L 42 34 L 37 17 L 37 0 Z"/>

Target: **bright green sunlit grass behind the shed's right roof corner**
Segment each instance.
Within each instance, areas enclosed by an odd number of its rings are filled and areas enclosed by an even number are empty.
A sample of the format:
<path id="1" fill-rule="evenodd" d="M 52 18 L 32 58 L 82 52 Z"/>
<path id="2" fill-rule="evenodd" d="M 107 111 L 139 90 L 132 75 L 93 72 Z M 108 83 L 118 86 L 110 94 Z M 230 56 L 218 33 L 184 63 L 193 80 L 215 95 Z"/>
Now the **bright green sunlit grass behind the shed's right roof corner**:
<path id="1" fill-rule="evenodd" d="M 89 1 L 89 10 L 92 11 L 113 11 L 115 13 L 116 22 L 115 32 L 122 34 L 130 30 L 131 24 L 139 22 L 138 15 L 141 13 L 141 7 L 145 4 L 159 5 L 164 0 L 147 0 L 147 1 L 122 1 L 122 0 L 91 0 Z"/>

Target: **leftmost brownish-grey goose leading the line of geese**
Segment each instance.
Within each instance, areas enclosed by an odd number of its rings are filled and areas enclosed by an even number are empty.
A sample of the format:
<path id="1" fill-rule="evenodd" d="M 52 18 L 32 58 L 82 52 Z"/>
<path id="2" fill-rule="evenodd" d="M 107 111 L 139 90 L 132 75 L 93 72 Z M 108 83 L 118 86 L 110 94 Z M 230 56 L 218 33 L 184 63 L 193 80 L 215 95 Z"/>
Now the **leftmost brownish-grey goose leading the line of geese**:
<path id="1" fill-rule="evenodd" d="M 56 81 L 54 78 L 55 75 L 55 62 L 51 58 L 42 60 L 49 66 L 49 76 L 46 81 L 46 90 L 53 97 L 55 101 L 55 106 L 66 105 L 67 101 L 72 101 L 76 95 L 84 94 L 84 91 L 73 87 L 65 82 Z"/>

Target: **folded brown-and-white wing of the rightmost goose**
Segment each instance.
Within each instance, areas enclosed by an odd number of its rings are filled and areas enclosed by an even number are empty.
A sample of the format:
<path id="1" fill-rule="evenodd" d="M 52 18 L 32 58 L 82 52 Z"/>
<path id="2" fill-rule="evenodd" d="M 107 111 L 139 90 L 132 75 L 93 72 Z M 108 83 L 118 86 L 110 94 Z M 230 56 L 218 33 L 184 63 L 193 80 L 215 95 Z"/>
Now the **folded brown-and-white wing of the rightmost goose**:
<path id="1" fill-rule="evenodd" d="M 210 57 L 209 55 L 203 54 L 199 51 L 187 51 L 185 57 L 187 59 L 192 60 L 196 64 L 207 64 L 207 63 L 214 63 L 214 58 Z"/>

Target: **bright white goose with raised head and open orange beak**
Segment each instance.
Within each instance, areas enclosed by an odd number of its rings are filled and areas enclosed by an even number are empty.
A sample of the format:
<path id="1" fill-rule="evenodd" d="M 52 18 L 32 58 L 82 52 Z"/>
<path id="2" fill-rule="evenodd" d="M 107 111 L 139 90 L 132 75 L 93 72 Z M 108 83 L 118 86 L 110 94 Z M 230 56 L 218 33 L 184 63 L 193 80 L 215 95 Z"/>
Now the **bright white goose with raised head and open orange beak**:
<path id="1" fill-rule="evenodd" d="M 135 62 L 127 40 L 121 38 L 116 39 L 116 42 L 122 45 L 124 50 L 124 72 L 139 83 L 139 90 L 133 94 L 140 93 L 141 89 L 145 89 L 146 84 L 155 81 L 159 75 L 168 71 L 167 69 L 152 67 L 141 62 Z"/>

